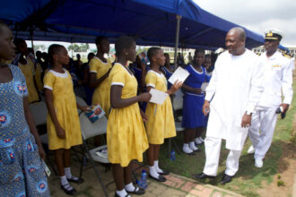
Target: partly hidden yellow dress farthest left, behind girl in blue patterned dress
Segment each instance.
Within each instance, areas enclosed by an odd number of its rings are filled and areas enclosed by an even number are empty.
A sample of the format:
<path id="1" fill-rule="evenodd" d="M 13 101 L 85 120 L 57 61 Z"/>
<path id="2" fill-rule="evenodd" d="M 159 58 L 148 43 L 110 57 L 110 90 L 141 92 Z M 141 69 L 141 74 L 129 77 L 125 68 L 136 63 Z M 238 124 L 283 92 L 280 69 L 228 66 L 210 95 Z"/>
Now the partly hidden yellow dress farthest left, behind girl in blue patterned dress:
<path id="1" fill-rule="evenodd" d="M 28 95 L 29 103 L 38 101 L 39 96 L 34 84 L 35 66 L 33 62 L 30 59 L 27 59 L 27 64 L 19 63 L 19 67 L 26 78 L 26 83 L 27 83 L 27 88 L 29 93 Z"/>

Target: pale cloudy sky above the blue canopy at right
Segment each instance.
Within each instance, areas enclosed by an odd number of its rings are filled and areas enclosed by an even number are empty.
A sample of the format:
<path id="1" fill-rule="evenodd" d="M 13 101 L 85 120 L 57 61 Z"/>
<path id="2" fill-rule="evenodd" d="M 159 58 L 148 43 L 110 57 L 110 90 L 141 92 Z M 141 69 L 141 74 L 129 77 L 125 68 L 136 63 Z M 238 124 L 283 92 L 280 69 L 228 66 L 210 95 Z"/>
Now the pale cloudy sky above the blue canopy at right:
<path id="1" fill-rule="evenodd" d="M 283 32 L 283 45 L 296 45 L 295 0 L 193 0 L 209 13 L 264 34 L 266 29 Z"/>

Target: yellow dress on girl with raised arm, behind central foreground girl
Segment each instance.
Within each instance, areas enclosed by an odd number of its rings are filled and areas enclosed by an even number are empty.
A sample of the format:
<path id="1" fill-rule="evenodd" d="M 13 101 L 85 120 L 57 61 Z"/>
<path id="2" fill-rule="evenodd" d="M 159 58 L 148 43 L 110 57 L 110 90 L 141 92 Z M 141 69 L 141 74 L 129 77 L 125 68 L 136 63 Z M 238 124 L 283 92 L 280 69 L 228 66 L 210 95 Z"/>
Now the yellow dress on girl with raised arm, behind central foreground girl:
<path id="1" fill-rule="evenodd" d="M 91 59 L 90 62 L 90 73 L 96 73 L 97 79 L 100 79 L 105 73 L 112 67 L 109 59 L 107 63 L 102 62 L 97 56 Z M 100 83 L 100 85 L 94 90 L 92 96 L 92 105 L 99 104 L 109 116 L 110 104 L 110 84 L 108 77 Z"/>

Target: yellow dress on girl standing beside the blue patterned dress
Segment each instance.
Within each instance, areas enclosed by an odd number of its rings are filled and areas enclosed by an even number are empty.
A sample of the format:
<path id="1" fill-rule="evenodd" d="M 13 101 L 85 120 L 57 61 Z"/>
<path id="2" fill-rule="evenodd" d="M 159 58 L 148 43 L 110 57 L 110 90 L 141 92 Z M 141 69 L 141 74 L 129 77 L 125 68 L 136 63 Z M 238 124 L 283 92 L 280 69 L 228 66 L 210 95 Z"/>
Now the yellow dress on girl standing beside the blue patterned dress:
<path id="1" fill-rule="evenodd" d="M 83 143 L 73 82 L 70 73 L 57 73 L 49 70 L 44 76 L 44 88 L 52 90 L 53 105 L 57 121 L 65 130 L 65 139 L 57 137 L 56 127 L 48 114 L 48 148 L 49 150 L 70 149 Z"/>

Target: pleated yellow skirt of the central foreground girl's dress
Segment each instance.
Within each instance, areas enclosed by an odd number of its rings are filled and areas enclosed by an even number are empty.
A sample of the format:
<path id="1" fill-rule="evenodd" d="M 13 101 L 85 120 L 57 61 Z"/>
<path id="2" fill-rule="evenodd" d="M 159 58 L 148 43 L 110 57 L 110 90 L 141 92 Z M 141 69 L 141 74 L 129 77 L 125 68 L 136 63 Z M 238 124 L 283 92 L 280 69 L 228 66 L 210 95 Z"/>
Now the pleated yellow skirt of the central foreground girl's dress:
<path id="1" fill-rule="evenodd" d="M 137 103 L 124 108 L 112 108 L 107 126 L 108 158 L 113 164 L 126 167 L 132 159 L 143 161 L 148 149 L 144 122 Z"/>

